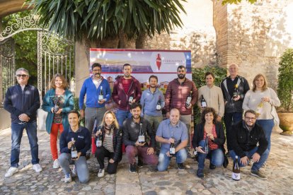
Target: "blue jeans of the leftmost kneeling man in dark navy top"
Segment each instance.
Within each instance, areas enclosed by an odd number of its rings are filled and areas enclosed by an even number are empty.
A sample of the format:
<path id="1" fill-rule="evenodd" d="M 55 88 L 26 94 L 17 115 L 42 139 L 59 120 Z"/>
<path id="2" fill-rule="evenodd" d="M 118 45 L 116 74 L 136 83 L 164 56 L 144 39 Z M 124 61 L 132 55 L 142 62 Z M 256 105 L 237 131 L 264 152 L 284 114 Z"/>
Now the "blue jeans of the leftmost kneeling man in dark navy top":
<path id="1" fill-rule="evenodd" d="M 88 163 L 86 162 L 85 156 L 80 156 L 78 160 L 72 160 L 71 154 L 62 153 L 58 158 L 59 165 L 62 167 L 64 175 L 67 175 L 71 172 L 69 165 L 74 164 L 76 167 L 77 177 L 81 183 L 86 183 L 90 179 Z"/>

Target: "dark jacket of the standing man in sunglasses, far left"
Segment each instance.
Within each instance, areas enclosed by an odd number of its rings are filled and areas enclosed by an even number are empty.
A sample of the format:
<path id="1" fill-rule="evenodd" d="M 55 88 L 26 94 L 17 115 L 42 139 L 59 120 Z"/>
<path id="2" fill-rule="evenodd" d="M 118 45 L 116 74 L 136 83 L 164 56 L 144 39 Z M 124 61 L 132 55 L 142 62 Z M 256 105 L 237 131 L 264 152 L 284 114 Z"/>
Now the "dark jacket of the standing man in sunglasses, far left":
<path id="1" fill-rule="evenodd" d="M 29 122 L 37 120 L 37 110 L 40 108 L 40 95 L 33 85 L 25 85 L 24 90 L 17 84 L 8 88 L 5 94 L 4 109 L 11 113 L 11 122 L 21 122 L 18 116 L 25 113 Z"/>

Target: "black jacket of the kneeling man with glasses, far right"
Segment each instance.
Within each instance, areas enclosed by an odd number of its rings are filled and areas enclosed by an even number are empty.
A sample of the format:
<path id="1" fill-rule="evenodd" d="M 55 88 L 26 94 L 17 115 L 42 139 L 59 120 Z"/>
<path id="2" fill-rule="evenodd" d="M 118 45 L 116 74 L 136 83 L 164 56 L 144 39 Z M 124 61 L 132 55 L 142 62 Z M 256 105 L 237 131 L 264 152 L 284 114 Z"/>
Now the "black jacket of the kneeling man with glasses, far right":
<path id="1" fill-rule="evenodd" d="M 255 124 L 251 131 L 248 131 L 243 120 L 231 126 L 232 150 L 240 158 L 246 156 L 244 151 L 252 150 L 258 143 L 259 146 L 256 153 L 262 155 L 268 148 L 268 141 L 265 138 L 265 132 L 258 124 Z"/>

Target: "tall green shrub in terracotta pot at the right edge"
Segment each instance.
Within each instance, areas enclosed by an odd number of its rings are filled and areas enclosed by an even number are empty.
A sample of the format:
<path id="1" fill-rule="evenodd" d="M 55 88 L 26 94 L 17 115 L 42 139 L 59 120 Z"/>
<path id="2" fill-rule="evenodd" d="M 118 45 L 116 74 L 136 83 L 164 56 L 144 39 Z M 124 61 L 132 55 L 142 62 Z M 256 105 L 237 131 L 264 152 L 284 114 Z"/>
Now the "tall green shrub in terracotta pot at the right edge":
<path id="1" fill-rule="evenodd" d="M 279 63 L 277 95 L 281 101 L 278 109 L 282 135 L 293 136 L 293 49 L 287 49 Z"/>

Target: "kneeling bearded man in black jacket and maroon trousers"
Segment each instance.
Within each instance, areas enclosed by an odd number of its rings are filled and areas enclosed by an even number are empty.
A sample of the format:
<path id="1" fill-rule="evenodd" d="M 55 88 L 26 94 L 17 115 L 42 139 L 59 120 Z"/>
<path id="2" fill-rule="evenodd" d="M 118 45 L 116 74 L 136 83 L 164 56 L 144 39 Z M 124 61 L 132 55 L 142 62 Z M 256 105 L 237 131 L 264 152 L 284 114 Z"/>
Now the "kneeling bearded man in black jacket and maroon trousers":
<path id="1" fill-rule="evenodd" d="M 138 167 L 143 164 L 157 165 L 158 158 L 154 155 L 156 140 L 151 124 L 140 117 L 142 105 L 134 102 L 130 105 L 131 118 L 123 122 L 123 143 L 126 146 L 126 155 L 130 162 L 130 172 L 137 172 L 135 156 L 138 155 Z"/>

